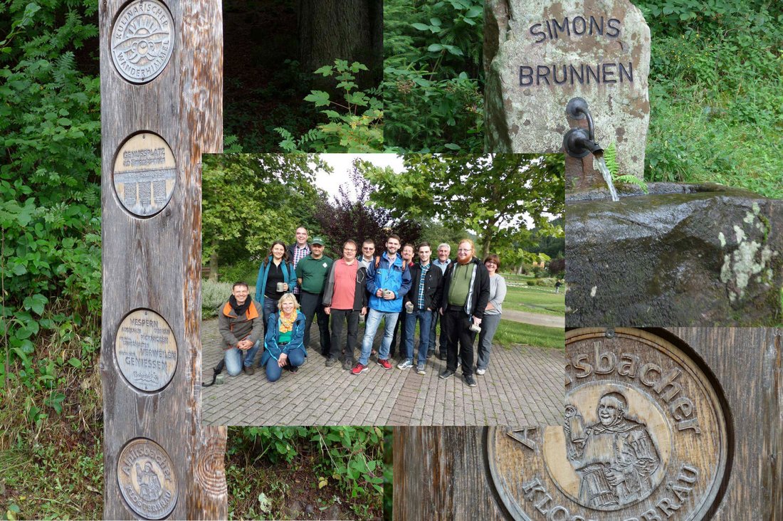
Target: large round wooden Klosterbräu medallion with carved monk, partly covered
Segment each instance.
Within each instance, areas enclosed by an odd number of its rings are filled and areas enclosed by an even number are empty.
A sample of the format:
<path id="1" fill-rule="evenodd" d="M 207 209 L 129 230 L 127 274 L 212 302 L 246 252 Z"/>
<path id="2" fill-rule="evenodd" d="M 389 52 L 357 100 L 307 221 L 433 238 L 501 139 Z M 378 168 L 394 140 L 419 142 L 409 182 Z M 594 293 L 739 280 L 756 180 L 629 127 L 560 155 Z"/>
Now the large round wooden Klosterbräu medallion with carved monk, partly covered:
<path id="1" fill-rule="evenodd" d="M 716 389 L 672 343 L 637 329 L 566 337 L 563 425 L 491 428 L 490 473 L 514 519 L 702 519 L 727 476 Z"/>

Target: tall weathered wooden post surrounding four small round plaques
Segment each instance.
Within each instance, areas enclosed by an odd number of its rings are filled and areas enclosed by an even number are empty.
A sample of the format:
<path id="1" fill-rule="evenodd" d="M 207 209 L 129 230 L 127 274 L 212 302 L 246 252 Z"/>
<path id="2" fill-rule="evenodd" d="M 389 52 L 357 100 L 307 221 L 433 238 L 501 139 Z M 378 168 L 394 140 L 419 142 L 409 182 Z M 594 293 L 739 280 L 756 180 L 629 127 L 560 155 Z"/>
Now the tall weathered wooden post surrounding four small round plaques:
<path id="1" fill-rule="evenodd" d="M 222 150 L 222 7 L 216 0 L 168 2 L 175 31 L 168 66 L 145 85 L 124 81 L 110 56 L 119 0 L 99 4 L 102 121 L 104 517 L 135 519 L 121 497 L 117 457 L 129 440 L 160 444 L 174 462 L 179 499 L 172 519 L 227 516 L 225 428 L 200 424 L 201 169 L 203 153 Z M 114 155 L 135 132 L 154 132 L 174 153 L 171 201 L 148 219 L 121 207 L 112 184 Z M 143 393 L 114 360 L 117 326 L 133 309 L 170 324 L 178 364 L 168 386 Z"/>

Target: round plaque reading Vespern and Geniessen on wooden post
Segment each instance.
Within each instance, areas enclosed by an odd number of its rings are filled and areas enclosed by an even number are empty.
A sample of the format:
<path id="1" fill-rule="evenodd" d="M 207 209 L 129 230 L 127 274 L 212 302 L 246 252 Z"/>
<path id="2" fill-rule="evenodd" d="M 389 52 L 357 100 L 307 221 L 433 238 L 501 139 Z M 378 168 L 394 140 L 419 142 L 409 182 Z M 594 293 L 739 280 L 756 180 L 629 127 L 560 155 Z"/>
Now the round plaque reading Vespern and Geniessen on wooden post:
<path id="1" fill-rule="evenodd" d="M 114 340 L 117 366 L 137 389 L 163 389 L 177 368 L 177 342 L 166 320 L 150 309 L 136 309 L 125 317 Z"/>

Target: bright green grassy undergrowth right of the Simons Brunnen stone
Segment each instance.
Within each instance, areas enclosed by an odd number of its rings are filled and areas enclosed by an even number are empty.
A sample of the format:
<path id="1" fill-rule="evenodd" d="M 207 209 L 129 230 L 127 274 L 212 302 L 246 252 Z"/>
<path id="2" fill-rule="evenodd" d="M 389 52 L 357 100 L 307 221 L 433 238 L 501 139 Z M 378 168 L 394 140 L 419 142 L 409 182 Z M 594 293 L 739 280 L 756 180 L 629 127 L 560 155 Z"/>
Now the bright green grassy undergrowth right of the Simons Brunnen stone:
<path id="1" fill-rule="evenodd" d="M 783 197 L 783 5 L 636 3 L 652 40 L 645 179 Z"/>

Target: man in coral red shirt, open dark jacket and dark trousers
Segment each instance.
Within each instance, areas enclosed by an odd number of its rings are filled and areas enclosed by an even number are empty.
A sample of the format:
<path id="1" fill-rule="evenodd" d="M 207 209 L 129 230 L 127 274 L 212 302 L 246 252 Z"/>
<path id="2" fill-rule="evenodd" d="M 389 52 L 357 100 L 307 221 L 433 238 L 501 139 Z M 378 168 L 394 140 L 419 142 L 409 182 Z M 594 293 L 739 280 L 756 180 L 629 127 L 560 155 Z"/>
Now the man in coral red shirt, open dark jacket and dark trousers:
<path id="1" fill-rule="evenodd" d="M 323 309 L 332 317 L 331 352 L 329 359 L 342 359 L 342 368 L 350 371 L 356 338 L 359 335 L 359 315 L 367 313 L 367 293 L 364 290 L 367 269 L 356 260 L 356 243 L 348 239 L 343 244 L 342 259 L 332 264 L 323 287 Z M 340 337 L 343 324 L 348 324 L 345 355 L 341 356 Z"/>

